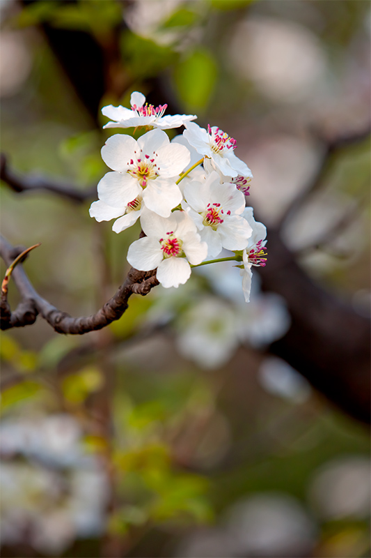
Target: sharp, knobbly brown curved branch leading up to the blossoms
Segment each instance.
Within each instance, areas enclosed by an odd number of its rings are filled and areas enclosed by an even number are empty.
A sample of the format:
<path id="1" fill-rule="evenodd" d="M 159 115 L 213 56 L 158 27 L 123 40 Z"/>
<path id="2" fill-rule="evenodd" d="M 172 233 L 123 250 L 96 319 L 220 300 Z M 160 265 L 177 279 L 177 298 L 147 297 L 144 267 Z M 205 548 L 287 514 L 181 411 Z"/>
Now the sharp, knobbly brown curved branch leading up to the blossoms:
<path id="1" fill-rule="evenodd" d="M 23 249 L 15 250 L 6 239 L 1 236 L 0 255 L 9 266 Z M 129 270 L 127 278 L 116 294 L 107 301 L 100 310 L 90 316 L 72 317 L 66 312 L 58 310 L 35 291 L 21 265 L 14 269 L 12 275 L 15 285 L 21 295 L 21 301 L 14 312 L 11 312 L 6 297 L 1 299 L 1 329 L 23 327 L 33 324 L 40 314 L 57 333 L 83 334 L 102 329 L 119 319 L 128 307 L 127 301 L 133 293 L 144 296 L 152 287 L 158 285 L 156 272 Z"/>

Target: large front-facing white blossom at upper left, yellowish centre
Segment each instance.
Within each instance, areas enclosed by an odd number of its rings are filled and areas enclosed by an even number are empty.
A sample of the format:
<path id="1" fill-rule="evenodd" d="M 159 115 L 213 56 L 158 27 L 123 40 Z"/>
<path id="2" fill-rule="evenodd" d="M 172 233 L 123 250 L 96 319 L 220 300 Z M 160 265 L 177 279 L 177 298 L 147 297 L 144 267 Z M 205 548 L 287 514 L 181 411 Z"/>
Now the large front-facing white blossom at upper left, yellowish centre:
<path id="1" fill-rule="evenodd" d="M 98 184 L 98 197 L 116 211 L 95 206 L 93 216 L 98 220 L 123 215 L 129 204 L 136 207 L 142 200 L 151 211 L 168 217 L 182 201 L 175 181 L 189 163 L 189 151 L 170 144 L 164 131 L 150 130 L 137 142 L 128 135 L 113 135 L 102 147 L 102 158 L 113 172 L 107 172 Z"/>

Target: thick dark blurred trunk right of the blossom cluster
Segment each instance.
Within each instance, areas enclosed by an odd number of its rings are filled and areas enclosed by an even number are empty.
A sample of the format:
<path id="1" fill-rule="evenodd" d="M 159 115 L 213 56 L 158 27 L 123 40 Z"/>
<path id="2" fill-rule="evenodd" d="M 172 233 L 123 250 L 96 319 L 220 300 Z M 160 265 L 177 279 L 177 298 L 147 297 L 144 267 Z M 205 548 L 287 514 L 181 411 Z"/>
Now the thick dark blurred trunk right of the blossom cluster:
<path id="1" fill-rule="evenodd" d="M 283 296 L 286 335 L 269 347 L 345 412 L 370 423 L 370 319 L 326 292 L 301 269 L 278 230 L 268 230 L 262 289 Z"/>

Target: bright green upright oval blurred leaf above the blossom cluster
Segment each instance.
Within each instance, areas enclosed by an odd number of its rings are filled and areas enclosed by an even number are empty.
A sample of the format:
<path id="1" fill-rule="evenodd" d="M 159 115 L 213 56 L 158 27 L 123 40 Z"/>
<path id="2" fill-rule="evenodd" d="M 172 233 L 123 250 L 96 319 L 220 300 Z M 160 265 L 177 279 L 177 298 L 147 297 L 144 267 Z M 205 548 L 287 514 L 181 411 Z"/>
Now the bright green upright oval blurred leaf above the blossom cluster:
<path id="1" fill-rule="evenodd" d="M 207 50 L 198 47 L 175 68 L 177 95 L 185 110 L 205 110 L 210 101 L 217 77 L 217 65 Z"/>

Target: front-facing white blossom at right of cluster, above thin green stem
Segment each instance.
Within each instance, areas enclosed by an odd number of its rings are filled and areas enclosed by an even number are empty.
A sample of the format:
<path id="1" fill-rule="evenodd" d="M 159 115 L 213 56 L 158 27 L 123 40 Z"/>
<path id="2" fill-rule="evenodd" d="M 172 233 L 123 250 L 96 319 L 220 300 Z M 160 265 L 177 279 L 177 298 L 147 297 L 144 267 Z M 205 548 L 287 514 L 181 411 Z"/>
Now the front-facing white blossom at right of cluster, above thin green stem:
<path id="1" fill-rule="evenodd" d="M 222 248 L 245 248 L 251 226 L 241 216 L 245 198 L 231 183 L 221 184 L 212 172 L 204 182 L 191 181 L 184 187 L 182 203 L 196 223 L 201 239 L 207 243 L 208 257 L 216 257 Z"/>

